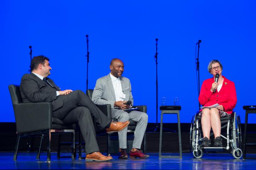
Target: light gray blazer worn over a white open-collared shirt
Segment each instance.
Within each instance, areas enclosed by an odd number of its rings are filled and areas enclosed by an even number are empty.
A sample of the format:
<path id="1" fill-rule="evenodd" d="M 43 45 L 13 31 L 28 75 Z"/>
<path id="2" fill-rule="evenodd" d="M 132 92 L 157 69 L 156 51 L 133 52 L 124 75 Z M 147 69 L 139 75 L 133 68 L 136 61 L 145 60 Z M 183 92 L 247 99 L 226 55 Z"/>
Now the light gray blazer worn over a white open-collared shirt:
<path id="1" fill-rule="evenodd" d="M 126 77 L 120 77 L 122 91 L 126 95 L 126 101 L 131 101 L 133 105 L 132 87 L 130 80 Z M 92 93 L 92 101 L 95 104 L 111 104 L 114 108 L 116 95 L 111 81 L 110 73 L 107 76 L 97 79 L 94 92 Z"/>

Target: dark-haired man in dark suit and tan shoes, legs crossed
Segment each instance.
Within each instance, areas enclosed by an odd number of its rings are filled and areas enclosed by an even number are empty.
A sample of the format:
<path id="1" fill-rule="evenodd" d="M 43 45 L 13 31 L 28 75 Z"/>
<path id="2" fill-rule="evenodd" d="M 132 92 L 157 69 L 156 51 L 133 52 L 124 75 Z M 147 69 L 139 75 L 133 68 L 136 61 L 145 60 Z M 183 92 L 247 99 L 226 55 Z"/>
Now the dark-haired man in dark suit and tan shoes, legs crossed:
<path id="1" fill-rule="evenodd" d="M 43 55 L 33 57 L 31 73 L 23 75 L 20 84 L 22 101 L 51 102 L 53 117 L 62 120 L 64 124 L 78 123 L 85 140 L 86 159 L 110 160 L 99 151 L 92 117 L 96 123 L 106 128 L 107 133 L 122 131 L 129 124 L 126 122 L 112 122 L 82 91 L 66 89 L 61 91 L 50 75 L 49 59 Z"/>

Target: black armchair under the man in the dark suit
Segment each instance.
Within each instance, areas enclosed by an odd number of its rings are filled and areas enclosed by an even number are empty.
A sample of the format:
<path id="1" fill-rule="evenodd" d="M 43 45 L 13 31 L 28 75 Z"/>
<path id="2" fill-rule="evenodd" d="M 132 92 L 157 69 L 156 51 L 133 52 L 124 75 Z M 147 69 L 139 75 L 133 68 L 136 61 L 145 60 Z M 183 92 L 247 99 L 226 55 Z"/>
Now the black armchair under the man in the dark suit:
<path id="1" fill-rule="evenodd" d="M 67 126 L 62 120 L 52 117 L 52 104 L 50 102 L 22 103 L 20 86 L 9 85 L 12 105 L 14 108 L 17 142 L 14 151 L 14 160 L 17 160 L 20 137 L 40 136 L 37 159 L 40 158 L 41 144 L 44 137 L 47 138 L 47 161 L 51 158 L 51 135 L 71 133 L 71 157 L 75 158 L 75 127 Z M 60 142 L 60 141 L 59 141 Z M 58 152 L 60 150 L 58 149 Z M 60 153 L 58 153 L 59 156 Z"/>

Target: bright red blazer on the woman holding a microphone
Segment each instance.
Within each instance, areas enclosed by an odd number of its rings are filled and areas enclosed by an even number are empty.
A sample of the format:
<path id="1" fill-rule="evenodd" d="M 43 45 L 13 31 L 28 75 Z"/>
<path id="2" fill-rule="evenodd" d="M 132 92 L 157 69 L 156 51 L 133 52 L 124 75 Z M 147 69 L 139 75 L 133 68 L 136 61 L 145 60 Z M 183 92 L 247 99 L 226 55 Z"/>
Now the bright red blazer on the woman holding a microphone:
<path id="1" fill-rule="evenodd" d="M 235 83 L 222 77 L 224 78 L 222 88 L 219 92 L 216 90 L 215 93 L 210 91 L 214 78 L 203 81 L 198 100 L 203 106 L 211 106 L 216 103 L 223 105 L 224 111 L 231 114 L 237 102 Z"/>

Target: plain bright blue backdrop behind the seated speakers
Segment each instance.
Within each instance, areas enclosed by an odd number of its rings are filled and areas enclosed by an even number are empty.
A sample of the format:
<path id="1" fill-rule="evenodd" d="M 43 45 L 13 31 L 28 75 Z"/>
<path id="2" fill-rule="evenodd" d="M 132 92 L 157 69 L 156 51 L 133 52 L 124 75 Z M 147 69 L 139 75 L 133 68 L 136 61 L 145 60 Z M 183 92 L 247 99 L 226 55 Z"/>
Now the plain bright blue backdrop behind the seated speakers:
<path id="1" fill-rule="evenodd" d="M 244 122 L 243 105 L 255 105 L 256 1 L 0 1 L 1 116 L 14 122 L 7 86 L 20 84 L 33 56 L 50 58 L 50 78 L 62 89 L 86 90 L 86 37 L 89 35 L 89 88 L 107 75 L 110 60 L 124 61 L 136 105 L 147 105 L 156 121 L 155 38 L 158 42 L 161 98 L 182 105 L 181 122 L 198 110 L 195 46 L 202 40 L 200 84 L 212 77 L 210 60 L 223 64 L 235 82 L 235 111 Z M 251 123 L 255 118 L 249 117 Z M 159 118 L 160 120 L 160 111 Z M 176 122 L 166 116 L 165 122 Z"/>

